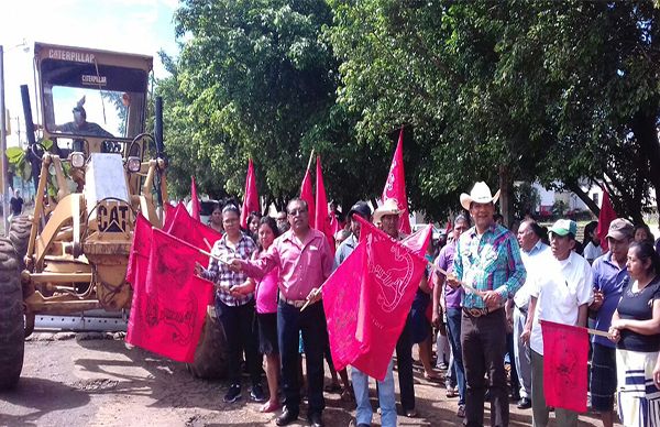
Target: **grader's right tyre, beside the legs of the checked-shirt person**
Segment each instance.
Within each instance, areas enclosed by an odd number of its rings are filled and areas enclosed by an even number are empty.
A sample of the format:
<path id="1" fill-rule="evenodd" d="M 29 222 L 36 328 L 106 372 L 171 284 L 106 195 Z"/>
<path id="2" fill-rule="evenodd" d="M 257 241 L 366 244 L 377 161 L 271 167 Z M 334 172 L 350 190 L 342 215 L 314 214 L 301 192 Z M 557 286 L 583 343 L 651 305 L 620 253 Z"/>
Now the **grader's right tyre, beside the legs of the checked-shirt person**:
<path id="1" fill-rule="evenodd" d="M 209 313 L 210 311 L 210 313 Z M 188 371 L 198 379 L 222 380 L 227 377 L 227 337 L 215 310 L 207 311 L 206 321 L 195 350 L 195 362 Z"/>

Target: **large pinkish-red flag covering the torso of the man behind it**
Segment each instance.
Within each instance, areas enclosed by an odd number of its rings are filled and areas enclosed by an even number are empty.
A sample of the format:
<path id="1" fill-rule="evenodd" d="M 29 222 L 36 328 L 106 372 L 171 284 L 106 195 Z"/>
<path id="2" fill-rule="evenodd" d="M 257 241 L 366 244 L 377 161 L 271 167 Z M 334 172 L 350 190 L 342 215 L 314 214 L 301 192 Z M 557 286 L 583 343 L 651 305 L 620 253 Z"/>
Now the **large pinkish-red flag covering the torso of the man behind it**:
<path id="1" fill-rule="evenodd" d="M 323 308 L 336 368 L 352 364 L 383 380 L 427 262 L 361 225 L 360 243 L 323 285 Z"/>

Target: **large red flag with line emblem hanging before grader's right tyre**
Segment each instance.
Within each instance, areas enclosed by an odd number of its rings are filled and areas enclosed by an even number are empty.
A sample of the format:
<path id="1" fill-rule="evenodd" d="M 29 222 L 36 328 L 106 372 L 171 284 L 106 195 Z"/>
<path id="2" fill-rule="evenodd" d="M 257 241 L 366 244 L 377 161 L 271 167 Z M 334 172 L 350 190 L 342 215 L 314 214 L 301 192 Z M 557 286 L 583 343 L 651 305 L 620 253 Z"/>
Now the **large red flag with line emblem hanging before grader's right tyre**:
<path id="1" fill-rule="evenodd" d="M 153 229 L 146 286 L 138 283 L 127 341 L 193 363 L 213 285 L 195 275 L 208 259 L 197 248 Z M 133 310 L 132 310 L 133 311 Z"/>

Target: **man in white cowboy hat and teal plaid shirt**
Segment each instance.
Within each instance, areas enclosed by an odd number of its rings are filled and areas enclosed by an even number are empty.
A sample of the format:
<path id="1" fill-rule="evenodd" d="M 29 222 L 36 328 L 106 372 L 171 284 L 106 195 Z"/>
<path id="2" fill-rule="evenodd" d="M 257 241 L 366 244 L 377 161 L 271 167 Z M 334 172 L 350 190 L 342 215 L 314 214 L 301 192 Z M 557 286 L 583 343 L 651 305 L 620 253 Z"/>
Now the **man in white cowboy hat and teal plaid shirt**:
<path id="1" fill-rule="evenodd" d="M 507 426 L 509 418 L 504 354 L 506 315 L 504 305 L 525 283 L 526 271 L 516 237 L 493 220 L 499 190 L 492 195 L 486 183 L 474 185 L 461 195 L 461 205 L 470 211 L 474 227 L 459 239 L 454 272 L 447 277 L 450 286 L 466 286 L 463 295 L 461 346 L 468 391 L 466 426 L 483 426 L 484 393 L 488 375 L 491 425 Z M 476 291 L 476 293 L 468 288 Z"/>

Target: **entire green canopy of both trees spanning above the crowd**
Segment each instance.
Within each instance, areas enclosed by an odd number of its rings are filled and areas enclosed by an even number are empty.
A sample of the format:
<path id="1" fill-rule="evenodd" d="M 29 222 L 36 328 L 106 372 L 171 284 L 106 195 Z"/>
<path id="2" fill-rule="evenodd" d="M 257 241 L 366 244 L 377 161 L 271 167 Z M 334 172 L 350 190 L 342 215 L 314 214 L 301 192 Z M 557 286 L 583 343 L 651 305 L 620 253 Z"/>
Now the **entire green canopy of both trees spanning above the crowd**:
<path id="1" fill-rule="evenodd" d="M 660 11 L 645 1 L 185 0 L 160 81 L 174 188 L 380 194 L 398 129 L 414 209 L 441 218 L 475 180 L 607 182 L 640 218 L 660 188 Z M 563 188 L 558 188 L 563 189 Z M 588 200 L 586 200 L 588 201 Z M 592 210 L 597 207 L 591 204 Z"/>

